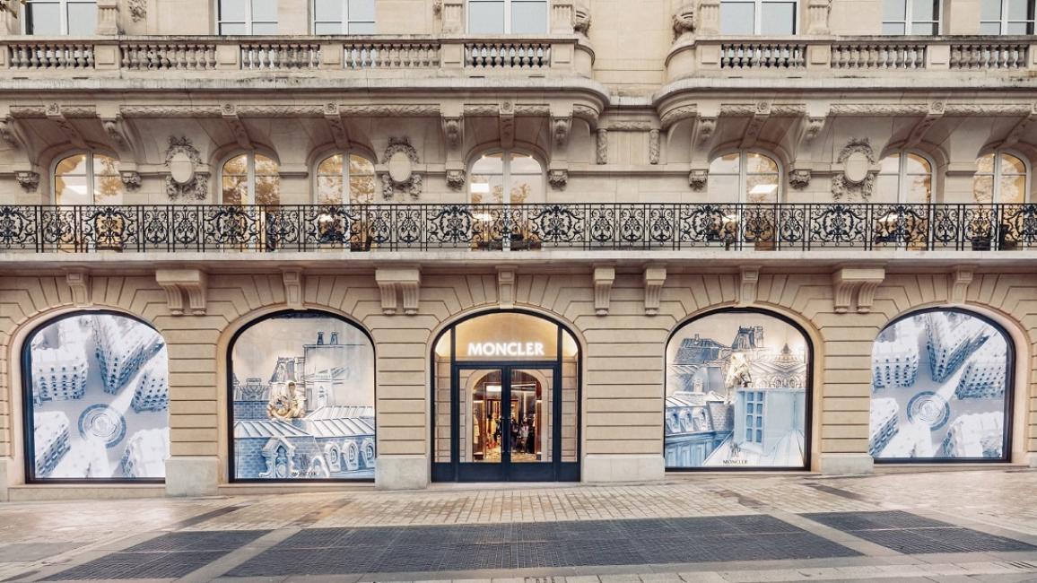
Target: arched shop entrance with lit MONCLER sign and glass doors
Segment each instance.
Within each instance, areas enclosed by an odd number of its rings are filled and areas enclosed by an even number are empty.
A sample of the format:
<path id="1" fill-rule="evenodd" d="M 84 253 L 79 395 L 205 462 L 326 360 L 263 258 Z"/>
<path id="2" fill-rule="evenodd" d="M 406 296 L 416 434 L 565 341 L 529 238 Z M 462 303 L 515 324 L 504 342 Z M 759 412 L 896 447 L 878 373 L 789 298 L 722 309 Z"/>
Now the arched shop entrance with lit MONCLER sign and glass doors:
<path id="1" fill-rule="evenodd" d="M 489 312 L 433 345 L 433 480 L 580 479 L 580 349 L 568 330 Z"/>

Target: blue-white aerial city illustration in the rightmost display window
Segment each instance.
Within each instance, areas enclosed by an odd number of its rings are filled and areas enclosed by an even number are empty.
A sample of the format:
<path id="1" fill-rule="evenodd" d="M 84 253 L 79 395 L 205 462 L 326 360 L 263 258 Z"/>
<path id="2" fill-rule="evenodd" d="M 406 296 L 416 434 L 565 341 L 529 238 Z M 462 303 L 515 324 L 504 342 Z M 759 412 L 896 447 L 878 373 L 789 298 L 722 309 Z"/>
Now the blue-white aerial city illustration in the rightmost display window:
<path id="1" fill-rule="evenodd" d="M 871 353 L 871 455 L 1004 460 L 1010 350 L 1004 331 L 960 311 L 888 326 Z"/>

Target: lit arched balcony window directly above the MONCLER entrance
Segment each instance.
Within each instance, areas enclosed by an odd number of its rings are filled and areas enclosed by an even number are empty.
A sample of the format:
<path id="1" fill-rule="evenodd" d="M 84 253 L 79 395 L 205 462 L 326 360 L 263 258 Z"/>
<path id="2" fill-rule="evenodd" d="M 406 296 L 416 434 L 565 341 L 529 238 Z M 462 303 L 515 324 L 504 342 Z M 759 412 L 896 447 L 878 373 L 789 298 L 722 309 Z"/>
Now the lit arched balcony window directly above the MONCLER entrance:
<path id="1" fill-rule="evenodd" d="M 528 154 L 485 154 L 472 163 L 469 176 L 473 204 L 543 202 L 543 167 Z"/>

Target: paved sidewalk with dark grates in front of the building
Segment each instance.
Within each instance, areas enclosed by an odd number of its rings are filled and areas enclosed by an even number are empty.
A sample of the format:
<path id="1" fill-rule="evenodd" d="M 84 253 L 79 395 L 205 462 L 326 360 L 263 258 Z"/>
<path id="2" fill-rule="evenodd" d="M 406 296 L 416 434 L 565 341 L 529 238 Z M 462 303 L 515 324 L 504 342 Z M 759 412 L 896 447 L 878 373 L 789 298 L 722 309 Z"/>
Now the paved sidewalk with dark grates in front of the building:
<path id="1" fill-rule="evenodd" d="M 0 581 L 1037 581 L 1037 471 L 0 504 Z"/>

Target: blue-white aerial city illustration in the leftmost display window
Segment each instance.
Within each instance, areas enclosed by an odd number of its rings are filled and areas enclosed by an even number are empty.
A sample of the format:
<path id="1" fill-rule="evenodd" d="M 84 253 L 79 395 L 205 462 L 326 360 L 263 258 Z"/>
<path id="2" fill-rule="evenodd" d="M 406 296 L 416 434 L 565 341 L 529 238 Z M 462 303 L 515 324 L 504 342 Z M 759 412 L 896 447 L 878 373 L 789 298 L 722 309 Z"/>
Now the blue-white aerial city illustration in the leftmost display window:
<path id="1" fill-rule="evenodd" d="M 40 328 L 27 346 L 33 479 L 165 477 L 169 374 L 157 331 L 79 314 Z"/>

